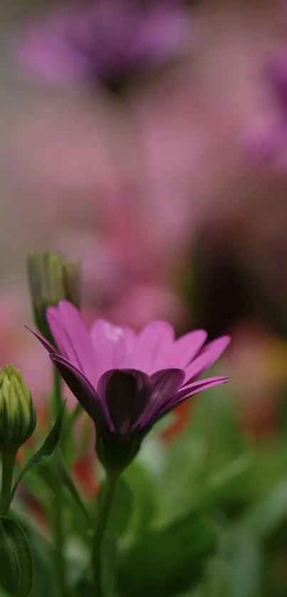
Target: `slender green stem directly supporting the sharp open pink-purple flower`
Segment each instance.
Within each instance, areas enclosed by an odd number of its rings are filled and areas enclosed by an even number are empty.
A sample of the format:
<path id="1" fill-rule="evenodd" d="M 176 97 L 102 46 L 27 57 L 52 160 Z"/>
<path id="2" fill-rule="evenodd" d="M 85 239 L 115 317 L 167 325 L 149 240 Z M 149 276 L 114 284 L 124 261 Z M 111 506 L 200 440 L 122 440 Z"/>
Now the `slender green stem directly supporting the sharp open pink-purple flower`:
<path id="1" fill-rule="evenodd" d="M 108 519 L 110 516 L 110 509 L 113 504 L 115 496 L 115 489 L 117 487 L 119 475 L 108 475 L 105 480 L 103 489 L 103 497 L 100 499 L 100 507 L 98 510 L 98 519 L 93 537 L 93 578 L 95 587 L 95 597 L 105 597 L 105 589 L 103 587 L 104 576 L 104 539 L 105 531 L 107 529 Z"/>

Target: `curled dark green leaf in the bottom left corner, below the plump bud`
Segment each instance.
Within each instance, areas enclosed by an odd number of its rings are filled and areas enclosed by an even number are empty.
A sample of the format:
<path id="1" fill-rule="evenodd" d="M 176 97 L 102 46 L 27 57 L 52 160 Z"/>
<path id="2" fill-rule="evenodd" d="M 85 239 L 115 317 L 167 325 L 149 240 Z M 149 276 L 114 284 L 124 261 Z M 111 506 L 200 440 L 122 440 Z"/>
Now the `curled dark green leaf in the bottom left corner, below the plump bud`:
<path id="1" fill-rule="evenodd" d="M 1 517 L 1 523 L 6 535 L 6 546 L 8 546 L 15 564 L 16 591 L 14 591 L 14 596 L 28 597 L 33 583 L 33 561 L 28 539 L 19 524 L 11 518 Z"/>

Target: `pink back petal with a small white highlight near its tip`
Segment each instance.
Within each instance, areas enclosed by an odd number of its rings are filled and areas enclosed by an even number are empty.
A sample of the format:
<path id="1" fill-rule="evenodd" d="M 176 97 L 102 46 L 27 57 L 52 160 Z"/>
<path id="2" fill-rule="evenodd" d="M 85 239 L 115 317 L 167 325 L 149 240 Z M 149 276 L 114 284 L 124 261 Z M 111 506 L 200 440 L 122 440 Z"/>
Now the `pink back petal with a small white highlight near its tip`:
<path id="1" fill-rule="evenodd" d="M 96 356 L 97 376 L 109 369 L 130 367 L 135 346 L 135 333 L 129 327 L 118 327 L 105 319 L 97 319 L 90 329 Z"/>

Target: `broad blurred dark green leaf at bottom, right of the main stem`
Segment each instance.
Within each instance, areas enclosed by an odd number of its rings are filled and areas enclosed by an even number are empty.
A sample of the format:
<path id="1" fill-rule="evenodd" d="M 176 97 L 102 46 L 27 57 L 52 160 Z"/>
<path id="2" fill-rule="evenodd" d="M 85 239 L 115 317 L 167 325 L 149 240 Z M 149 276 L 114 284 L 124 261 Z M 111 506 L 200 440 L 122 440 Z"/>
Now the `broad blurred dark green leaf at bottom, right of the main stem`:
<path id="1" fill-rule="evenodd" d="M 125 597 L 169 597 L 187 591 L 202 575 L 214 549 L 214 530 L 197 512 L 143 535 L 122 554 L 118 581 Z"/>

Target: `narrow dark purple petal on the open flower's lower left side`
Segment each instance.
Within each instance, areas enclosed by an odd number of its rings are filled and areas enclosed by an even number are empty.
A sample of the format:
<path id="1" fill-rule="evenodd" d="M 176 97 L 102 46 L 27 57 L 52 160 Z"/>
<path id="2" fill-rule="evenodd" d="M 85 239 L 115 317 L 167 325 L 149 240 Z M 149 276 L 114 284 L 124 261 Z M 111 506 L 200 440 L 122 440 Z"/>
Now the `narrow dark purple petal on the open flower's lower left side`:
<path id="1" fill-rule="evenodd" d="M 63 356 L 51 354 L 50 358 L 68 388 L 70 388 L 71 392 L 83 406 L 90 418 L 92 418 L 95 423 L 98 423 L 99 418 L 100 421 L 103 421 L 103 409 L 101 408 L 97 392 L 90 384 L 90 381 L 88 381 L 83 373 L 70 361 L 64 359 Z"/>

